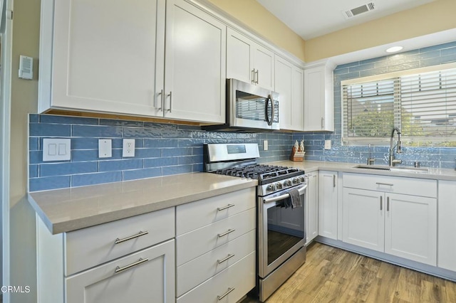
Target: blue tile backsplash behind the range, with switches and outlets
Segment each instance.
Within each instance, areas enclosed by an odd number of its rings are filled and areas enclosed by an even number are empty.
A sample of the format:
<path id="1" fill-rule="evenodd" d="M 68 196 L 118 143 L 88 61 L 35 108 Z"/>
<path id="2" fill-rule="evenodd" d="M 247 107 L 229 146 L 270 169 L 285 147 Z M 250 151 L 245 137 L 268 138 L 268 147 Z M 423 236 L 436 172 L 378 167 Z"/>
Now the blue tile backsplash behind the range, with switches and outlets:
<path id="1" fill-rule="evenodd" d="M 204 143 L 258 143 L 261 161 L 285 160 L 293 137 L 290 132 L 206 132 L 188 125 L 34 114 L 29 134 L 29 191 L 202 171 Z M 43 162 L 46 137 L 70 138 L 71 160 Z M 98 158 L 100 138 L 112 139 L 112 157 Z M 123 158 L 123 138 L 135 139 L 135 157 Z M 262 151 L 265 139 L 268 151 Z"/>

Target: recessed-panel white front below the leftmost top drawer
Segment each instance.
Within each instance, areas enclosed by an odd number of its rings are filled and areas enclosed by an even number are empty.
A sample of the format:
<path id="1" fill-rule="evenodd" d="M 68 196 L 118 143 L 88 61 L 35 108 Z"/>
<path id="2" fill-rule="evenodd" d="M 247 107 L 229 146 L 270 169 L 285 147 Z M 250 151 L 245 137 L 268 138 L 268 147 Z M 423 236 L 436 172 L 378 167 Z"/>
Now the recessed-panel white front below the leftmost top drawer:
<path id="1" fill-rule="evenodd" d="M 68 277 L 66 302 L 175 302 L 174 240 Z"/>

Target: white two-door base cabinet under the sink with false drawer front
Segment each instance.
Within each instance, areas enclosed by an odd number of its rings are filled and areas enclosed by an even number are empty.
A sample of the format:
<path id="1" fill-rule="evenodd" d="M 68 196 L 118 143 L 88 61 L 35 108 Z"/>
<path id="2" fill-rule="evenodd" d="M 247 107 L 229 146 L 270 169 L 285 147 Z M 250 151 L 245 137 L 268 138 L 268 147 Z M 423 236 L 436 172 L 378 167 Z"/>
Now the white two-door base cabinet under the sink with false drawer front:
<path id="1" fill-rule="evenodd" d="M 382 178 L 343 176 L 343 242 L 437 265 L 436 181 Z"/>

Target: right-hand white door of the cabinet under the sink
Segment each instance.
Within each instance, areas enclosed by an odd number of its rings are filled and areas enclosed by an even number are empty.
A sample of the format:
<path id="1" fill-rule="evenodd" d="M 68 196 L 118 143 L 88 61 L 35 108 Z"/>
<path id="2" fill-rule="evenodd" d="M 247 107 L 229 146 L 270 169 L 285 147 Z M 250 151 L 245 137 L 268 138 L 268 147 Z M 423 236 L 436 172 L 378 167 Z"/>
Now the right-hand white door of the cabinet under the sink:
<path id="1" fill-rule="evenodd" d="M 437 199 L 386 193 L 385 252 L 437 265 Z"/>

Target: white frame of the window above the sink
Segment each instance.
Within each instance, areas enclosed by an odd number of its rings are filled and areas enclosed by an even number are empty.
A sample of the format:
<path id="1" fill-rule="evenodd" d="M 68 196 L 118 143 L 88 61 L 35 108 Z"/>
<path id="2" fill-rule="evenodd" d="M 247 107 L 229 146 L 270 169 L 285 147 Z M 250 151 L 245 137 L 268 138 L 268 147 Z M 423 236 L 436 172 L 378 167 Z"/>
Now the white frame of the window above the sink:
<path id="1" fill-rule="evenodd" d="M 343 86 L 344 85 L 361 85 L 363 83 L 371 83 L 375 81 L 381 81 L 381 80 L 394 80 L 395 78 L 400 78 L 403 76 L 407 75 L 417 75 L 420 73 L 430 73 L 430 72 L 436 72 L 439 70 L 448 70 L 456 68 L 456 63 L 446 63 L 442 65 L 432 65 L 432 66 L 427 66 L 425 68 L 413 68 L 410 70 L 400 70 L 396 71 L 393 73 L 383 73 L 383 74 L 378 74 L 378 75 L 372 75 L 372 76 L 367 76 L 367 77 L 361 77 L 361 78 L 351 78 L 348 80 L 341 80 L 341 144 L 342 145 L 347 145 L 347 146 L 364 146 L 367 144 L 378 144 L 378 145 L 387 145 L 390 143 L 390 138 L 389 137 L 346 137 L 346 129 L 345 129 L 345 117 L 344 117 L 344 98 L 343 98 Z M 395 97 L 396 99 L 396 97 Z M 397 100 L 394 100 L 396 103 Z M 397 115 L 397 112 L 394 112 L 394 115 Z M 400 118 L 399 118 L 400 119 Z M 396 120 L 396 117 L 395 117 Z M 397 125 L 395 125 L 396 127 Z M 402 125 L 401 125 L 402 126 Z M 393 130 L 393 129 L 391 129 Z M 404 142 L 410 142 L 410 141 L 427 141 L 427 142 L 446 142 L 448 141 L 447 137 L 426 137 L 429 140 L 423 139 L 424 137 L 403 137 Z M 421 145 L 420 145 L 421 146 Z M 423 145 L 423 146 L 428 146 L 428 145 Z"/>

